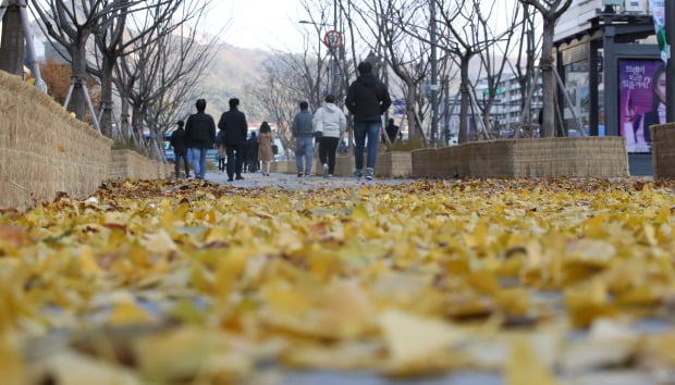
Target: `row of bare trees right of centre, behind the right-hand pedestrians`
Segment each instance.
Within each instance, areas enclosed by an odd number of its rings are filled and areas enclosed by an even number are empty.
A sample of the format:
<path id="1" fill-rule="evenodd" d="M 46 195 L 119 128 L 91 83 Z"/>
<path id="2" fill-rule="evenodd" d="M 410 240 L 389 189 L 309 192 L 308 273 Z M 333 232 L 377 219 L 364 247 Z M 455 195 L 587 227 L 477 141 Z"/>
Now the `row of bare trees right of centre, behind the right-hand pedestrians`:
<path id="1" fill-rule="evenodd" d="M 541 72 L 540 135 L 554 135 L 553 35 L 555 23 L 572 0 L 300 2 L 306 24 L 311 25 L 304 52 L 277 51 L 275 61 L 265 69 L 261 89 L 282 133 L 293 116 L 296 100 L 309 99 L 310 104 L 317 104 L 326 92 L 341 99 L 355 77 L 358 62 L 368 59 L 375 62 L 395 98 L 405 101 L 410 137 L 446 141 L 454 112 L 452 100 L 459 102 L 458 142 L 471 139 L 470 116 L 480 136 L 494 135 L 490 111 L 507 72 L 520 84 L 525 127 L 531 122 L 526 105 L 530 102 L 528 91 Z M 346 48 L 329 50 L 322 46 L 317 36 L 332 28 L 344 33 Z M 480 97 L 477 91 L 483 90 L 477 89 L 478 77 L 487 78 L 487 90 Z M 439 104 L 443 104 L 442 111 Z M 439 126 L 446 127 L 446 132 L 441 133 Z"/>

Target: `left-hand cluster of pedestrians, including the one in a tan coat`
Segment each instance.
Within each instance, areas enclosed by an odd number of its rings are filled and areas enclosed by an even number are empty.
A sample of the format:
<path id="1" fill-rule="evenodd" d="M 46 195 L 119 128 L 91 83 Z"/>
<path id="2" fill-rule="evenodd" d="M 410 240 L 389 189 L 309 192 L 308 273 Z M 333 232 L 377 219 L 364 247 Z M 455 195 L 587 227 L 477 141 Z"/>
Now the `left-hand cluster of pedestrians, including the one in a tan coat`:
<path id="1" fill-rule="evenodd" d="M 207 151 L 217 145 L 219 170 L 221 172 L 226 171 L 229 182 L 244 179 L 242 171 L 246 157 L 248 123 L 246 122 L 246 115 L 238 110 L 240 100 L 232 98 L 229 103 L 230 110 L 223 112 L 218 122 L 218 128 L 220 129 L 218 136 L 216 135 L 213 117 L 205 112 L 205 99 L 197 100 L 195 104 L 197 113 L 189 115 L 185 124 L 182 121 L 177 123 L 179 127 L 171 136 L 171 146 L 175 153 L 176 178 L 180 177 L 181 161 L 185 164 L 185 176 L 189 177 L 189 158 L 195 178 L 204 179 Z M 185 126 L 184 129 L 183 125 Z M 262 122 L 260 125 L 260 135 L 257 136 L 256 140 L 258 145 L 256 158 L 262 161 L 263 175 L 267 176 L 269 175 L 269 163 L 273 159 L 273 136 L 267 122 Z"/>

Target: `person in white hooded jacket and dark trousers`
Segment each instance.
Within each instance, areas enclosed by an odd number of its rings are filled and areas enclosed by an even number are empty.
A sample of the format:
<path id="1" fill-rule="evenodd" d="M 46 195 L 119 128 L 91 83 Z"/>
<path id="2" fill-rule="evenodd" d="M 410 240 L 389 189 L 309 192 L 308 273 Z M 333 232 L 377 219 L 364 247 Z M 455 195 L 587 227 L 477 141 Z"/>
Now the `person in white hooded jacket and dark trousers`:
<path id="1" fill-rule="evenodd" d="M 335 171 L 335 151 L 347 127 L 347 119 L 342 109 L 335 105 L 334 96 L 327 95 L 323 100 L 323 105 L 315 112 L 311 123 L 315 137 L 319 138 L 319 159 L 323 164 L 323 177 L 332 177 Z"/>

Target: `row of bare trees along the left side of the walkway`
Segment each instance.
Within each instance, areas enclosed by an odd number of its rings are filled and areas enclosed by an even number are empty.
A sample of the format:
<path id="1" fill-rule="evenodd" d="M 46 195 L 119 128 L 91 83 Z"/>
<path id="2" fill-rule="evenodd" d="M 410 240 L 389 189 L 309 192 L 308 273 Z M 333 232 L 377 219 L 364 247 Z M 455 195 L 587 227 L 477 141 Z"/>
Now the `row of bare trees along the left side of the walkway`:
<path id="1" fill-rule="evenodd" d="M 10 8 L 24 0 L 12 1 Z M 85 120 L 85 85 L 96 78 L 100 105 L 89 117 L 99 120 L 102 134 L 146 146 L 161 159 L 162 133 L 192 100 L 191 91 L 213 57 L 206 34 L 196 28 L 211 1 L 35 0 L 29 9 L 70 64 L 66 108 Z M 3 25 L 15 25 L 17 14 L 8 12 Z M 150 141 L 142 139 L 148 129 Z"/>

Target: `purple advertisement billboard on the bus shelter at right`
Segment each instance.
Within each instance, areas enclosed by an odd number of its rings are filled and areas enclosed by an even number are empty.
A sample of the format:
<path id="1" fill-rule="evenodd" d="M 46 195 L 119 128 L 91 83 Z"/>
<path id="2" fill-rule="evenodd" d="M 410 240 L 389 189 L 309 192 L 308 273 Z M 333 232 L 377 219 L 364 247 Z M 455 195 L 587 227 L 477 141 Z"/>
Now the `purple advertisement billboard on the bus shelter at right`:
<path id="1" fill-rule="evenodd" d="M 628 152 L 650 152 L 649 127 L 665 123 L 665 66 L 661 60 L 621 60 L 618 122 Z"/>

